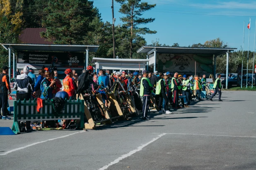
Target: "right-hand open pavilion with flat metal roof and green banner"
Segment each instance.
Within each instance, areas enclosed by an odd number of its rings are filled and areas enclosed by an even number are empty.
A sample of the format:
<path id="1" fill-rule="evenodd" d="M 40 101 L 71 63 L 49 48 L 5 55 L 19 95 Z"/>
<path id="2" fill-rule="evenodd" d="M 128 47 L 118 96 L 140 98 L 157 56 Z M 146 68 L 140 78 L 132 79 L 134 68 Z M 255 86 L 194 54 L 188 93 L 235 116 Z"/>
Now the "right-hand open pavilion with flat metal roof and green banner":
<path id="1" fill-rule="evenodd" d="M 147 54 L 148 65 L 153 71 L 215 75 L 216 57 L 234 50 L 237 48 L 142 46 L 137 52 Z"/>

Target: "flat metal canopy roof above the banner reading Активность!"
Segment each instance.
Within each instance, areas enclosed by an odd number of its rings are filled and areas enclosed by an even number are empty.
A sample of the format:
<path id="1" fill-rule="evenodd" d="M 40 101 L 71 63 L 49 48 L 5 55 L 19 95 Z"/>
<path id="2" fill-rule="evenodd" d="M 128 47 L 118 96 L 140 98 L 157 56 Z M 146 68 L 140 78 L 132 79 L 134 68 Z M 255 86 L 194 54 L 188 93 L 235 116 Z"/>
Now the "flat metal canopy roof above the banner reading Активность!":
<path id="1" fill-rule="evenodd" d="M 56 52 L 96 52 L 99 45 L 43 45 L 43 44 L 1 44 L 6 50 L 19 51 L 56 51 Z"/>

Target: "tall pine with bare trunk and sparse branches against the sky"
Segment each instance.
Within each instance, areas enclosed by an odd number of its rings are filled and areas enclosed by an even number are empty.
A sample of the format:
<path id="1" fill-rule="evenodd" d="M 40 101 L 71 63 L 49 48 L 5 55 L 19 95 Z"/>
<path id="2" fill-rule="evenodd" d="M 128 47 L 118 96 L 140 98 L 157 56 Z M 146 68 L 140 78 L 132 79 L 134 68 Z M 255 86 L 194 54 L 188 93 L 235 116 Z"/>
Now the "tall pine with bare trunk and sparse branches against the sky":
<path id="1" fill-rule="evenodd" d="M 151 31 L 149 28 L 140 28 L 141 24 L 148 24 L 155 21 L 154 18 L 142 18 L 143 12 L 146 12 L 156 6 L 156 4 L 150 5 L 147 2 L 140 2 L 141 0 L 116 0 L 116 2 L 121 4 L 121 8 L 119 12 L 126 15 L 125 17 L 121 17 L 121 21 L 123 21 L 129 30 L 129 53 L 130 58 L 133 58 L 133 47 L 134 41 L 138 41 L 141 39 L 139 35 L 145 34 L 154 34 L 157 31 Z M 135 49 L 137 50 L 137 49 Z"/>

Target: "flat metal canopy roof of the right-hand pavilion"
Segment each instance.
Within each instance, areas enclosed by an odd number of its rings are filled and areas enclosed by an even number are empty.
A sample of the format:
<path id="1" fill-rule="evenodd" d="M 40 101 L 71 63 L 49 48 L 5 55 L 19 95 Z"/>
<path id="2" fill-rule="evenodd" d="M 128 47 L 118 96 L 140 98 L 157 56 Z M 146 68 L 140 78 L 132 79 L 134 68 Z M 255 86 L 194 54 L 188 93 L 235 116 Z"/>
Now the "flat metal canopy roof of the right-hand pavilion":
<path id="1" fill-rule="evenodd" d="M 229 51 L 237 50 L 237 48 L 193 48 L 193 47 L 153 47 L 153 46 L 142 46 L 138 53 L 152 54 L 154 50 L 157 53 L 164 54 L 215 54 L 220 55 Z"/>

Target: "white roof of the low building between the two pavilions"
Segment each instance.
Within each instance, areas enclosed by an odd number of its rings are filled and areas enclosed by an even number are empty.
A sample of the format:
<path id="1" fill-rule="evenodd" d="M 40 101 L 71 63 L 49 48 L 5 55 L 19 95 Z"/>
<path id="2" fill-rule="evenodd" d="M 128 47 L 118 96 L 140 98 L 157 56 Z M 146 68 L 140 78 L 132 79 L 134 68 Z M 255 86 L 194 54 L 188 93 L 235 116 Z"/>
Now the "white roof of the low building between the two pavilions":
<path id="1" fill-rule="evenodd" d="M 106 58 L 92 58 L 92 63 L 95 62 L 118 62 L 118 63 L 146 63 L 147 61 L 150 61 L 150 59 L 106 59 Z"/>

